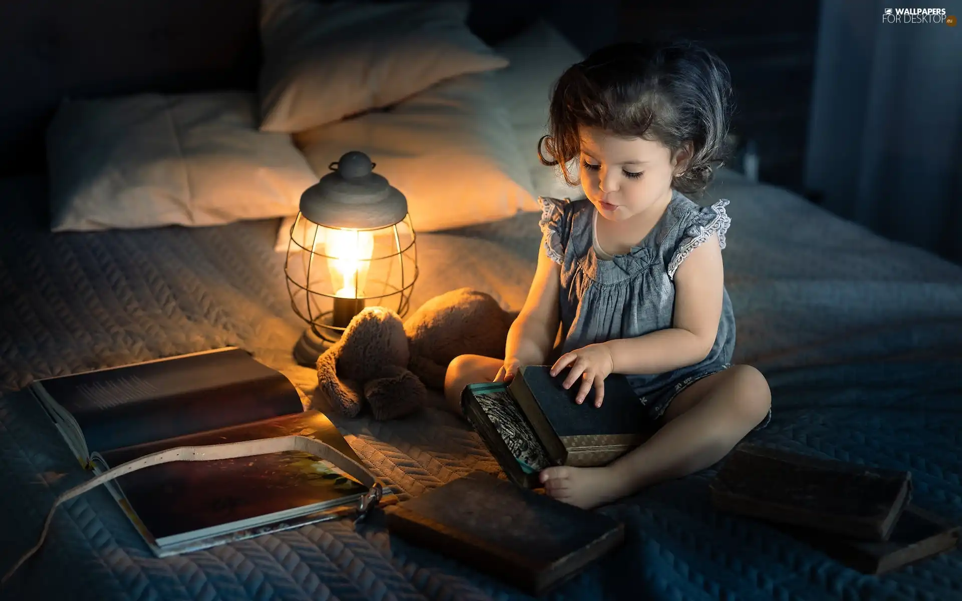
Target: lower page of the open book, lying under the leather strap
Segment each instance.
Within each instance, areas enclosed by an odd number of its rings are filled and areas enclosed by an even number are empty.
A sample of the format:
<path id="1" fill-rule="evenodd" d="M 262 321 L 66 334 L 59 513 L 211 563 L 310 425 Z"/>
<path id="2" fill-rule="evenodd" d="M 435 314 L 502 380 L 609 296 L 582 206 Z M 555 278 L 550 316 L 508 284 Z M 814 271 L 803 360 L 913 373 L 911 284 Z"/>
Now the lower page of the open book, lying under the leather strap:
<path id="1" fill-rule="evenodd" d="M 184 446 L 278 438 L 315 438 L 361 459 L 323 413 L 308 411 L 95 454 L 102 468 Z M 148 544 L 165 549 L 319 510 L 367 488 L 332 463 L 290 451 L 209 462 L 151 465 L 117 478 L 112 492 Z M 313 509 L 312 509 L 313 508 Z M 302 511 L 303 510 L 303 511 Z M 287 519 L 285 517 L 284 519 Z"/>

